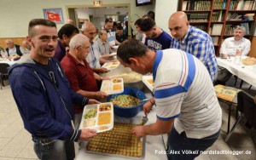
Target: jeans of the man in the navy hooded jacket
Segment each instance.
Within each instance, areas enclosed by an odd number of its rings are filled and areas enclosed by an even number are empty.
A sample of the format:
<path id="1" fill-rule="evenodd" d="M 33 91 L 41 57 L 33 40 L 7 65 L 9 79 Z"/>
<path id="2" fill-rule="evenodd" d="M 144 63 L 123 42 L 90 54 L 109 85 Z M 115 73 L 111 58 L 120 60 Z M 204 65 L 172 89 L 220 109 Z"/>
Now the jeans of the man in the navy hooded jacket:
<path id="1" fill-rule="evenodd" d="M 70 140 L 51 140 L 34 137 L 34 151 L 41 160 L 73 160 L 74 144 Z"/>

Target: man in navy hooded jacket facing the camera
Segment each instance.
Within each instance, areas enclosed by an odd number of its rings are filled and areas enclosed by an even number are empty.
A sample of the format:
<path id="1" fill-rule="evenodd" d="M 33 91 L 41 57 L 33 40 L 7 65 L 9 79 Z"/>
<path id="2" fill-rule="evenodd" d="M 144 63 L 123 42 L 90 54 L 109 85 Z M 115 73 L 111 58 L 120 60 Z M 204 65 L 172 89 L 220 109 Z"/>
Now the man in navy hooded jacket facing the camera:
<path id="1" fill-rule="evenodd" d="M 99 103 L 76 94 L 58 60 L 52 59 L 57 45 L 54 22 L 34 19 L 29 23 L 32 49 L 9 70 L 9 83 L 25 129 L 32 134 L 39 159 L 73 159 L 73 141 L 90 140 L 93 129 L 73 129 L 73 103 Z"/>

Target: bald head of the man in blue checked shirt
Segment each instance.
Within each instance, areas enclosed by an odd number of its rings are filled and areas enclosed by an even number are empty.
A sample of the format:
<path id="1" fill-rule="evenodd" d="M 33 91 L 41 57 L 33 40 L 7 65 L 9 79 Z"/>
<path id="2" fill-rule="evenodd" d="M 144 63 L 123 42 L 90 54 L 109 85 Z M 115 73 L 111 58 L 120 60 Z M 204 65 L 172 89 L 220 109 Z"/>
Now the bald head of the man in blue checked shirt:
<path id="1" fill-rule="evenodd" d="M 182 11 L 172 14 L 169 19 L 169 29 L 172 37 L 176 39 L 183 39 L 189 31 L 189 20 L 187 14 Z"/>

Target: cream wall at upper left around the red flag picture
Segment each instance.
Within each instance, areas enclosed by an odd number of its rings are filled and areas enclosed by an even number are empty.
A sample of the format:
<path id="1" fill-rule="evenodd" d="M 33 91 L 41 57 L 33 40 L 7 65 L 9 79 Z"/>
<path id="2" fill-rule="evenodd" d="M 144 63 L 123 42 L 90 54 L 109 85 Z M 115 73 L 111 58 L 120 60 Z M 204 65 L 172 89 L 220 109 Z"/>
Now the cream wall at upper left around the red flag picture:
<path id="1" fill-rule="evenodd" d="M 44 18 L 43 9 L 61 8 L 67 20 L 66 6 L 91 5 L 93 0 L 0 0 L 0 37 L 26 37 L 30 20 Z M 154 4 L 136 7 L 135 0 L 102 0 L 103 4 L 130 4 L 131 16 L 147 14 Z M 63 24 L 58 24 L 61 28 Z"/>

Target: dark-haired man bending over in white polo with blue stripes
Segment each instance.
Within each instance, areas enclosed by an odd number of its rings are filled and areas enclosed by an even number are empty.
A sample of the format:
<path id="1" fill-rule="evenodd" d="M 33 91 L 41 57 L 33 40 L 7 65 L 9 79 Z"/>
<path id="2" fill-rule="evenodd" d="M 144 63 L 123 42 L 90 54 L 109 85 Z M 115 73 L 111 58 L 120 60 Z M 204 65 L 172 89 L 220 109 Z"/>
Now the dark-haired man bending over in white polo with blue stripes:
<path id="1" fill-rule="evenodd" d="M 122 65 L 140 74 L 153 73 L 154 98 L 143 109 L 156 105 L 157 120 L 132 130 L 138 137 L 168 133 L 168 159 L 194 159 L 218 139 L 222 111 L 206 66 L 179 49 L 148 49 L 136 39 L 119 45 Z M 189 154 L 186 154 L 189 153 Z"/>

